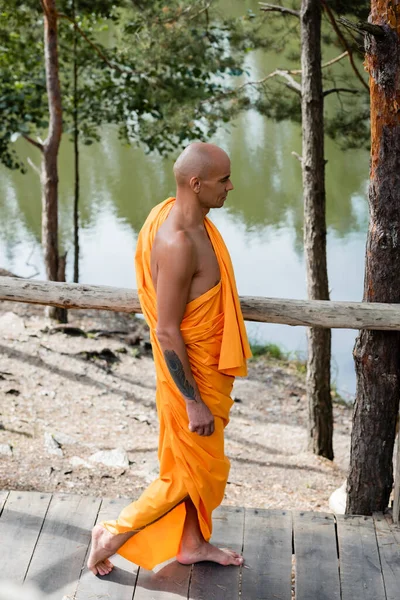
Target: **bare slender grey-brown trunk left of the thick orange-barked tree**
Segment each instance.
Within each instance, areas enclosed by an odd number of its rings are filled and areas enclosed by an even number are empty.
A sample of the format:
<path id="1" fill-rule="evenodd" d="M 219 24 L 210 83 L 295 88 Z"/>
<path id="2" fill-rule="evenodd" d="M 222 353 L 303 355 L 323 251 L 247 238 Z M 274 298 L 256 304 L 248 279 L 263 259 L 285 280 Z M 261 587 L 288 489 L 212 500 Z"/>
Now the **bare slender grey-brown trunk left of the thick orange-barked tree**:
<path id="1" fill-rule="evenodd" d="M 329 300 L 326 264 L 324 100 L 321 71 L 321 5 L 302 0 L 301 11 L 304 251 L 310 300 Z M 309 447 L 333 459 L 330 330 L 307 330 Z"/>

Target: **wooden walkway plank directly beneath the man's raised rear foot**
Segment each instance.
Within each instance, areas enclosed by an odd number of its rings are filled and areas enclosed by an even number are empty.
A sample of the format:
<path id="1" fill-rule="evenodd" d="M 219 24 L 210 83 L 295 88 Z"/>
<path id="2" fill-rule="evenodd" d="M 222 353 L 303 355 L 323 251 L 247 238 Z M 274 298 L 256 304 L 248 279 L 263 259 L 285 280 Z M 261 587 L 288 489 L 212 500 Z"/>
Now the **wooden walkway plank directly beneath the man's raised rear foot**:
<path id="1" fill-rule="evenodd" d="M 104 499 L 96 522 L 116 519 L 129 502 L 126 498 Z M 138 572 L 136 565 L 115 554 L 111 559 L 114 565 L 111 573 L 103 577 L 95 577 L 86 567 L 87 558 L 88 555 L 85 558 L 85 567 L 74 600 L 88 600 L 89 598 L 90 600 L 104 600 L 105 598 L 132 600 Z"/>

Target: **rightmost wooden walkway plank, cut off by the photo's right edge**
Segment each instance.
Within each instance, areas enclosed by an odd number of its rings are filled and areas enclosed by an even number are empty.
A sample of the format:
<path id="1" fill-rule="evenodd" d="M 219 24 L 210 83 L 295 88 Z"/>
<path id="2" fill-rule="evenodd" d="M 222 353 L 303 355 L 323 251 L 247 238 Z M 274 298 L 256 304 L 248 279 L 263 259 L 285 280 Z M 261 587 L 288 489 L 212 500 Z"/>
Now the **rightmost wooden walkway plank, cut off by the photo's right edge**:
<path id="1" fill-rule="evenodd" d="M 373 515 L 387 600 L 400 596 L 400 542 L 382 513 Z"/>

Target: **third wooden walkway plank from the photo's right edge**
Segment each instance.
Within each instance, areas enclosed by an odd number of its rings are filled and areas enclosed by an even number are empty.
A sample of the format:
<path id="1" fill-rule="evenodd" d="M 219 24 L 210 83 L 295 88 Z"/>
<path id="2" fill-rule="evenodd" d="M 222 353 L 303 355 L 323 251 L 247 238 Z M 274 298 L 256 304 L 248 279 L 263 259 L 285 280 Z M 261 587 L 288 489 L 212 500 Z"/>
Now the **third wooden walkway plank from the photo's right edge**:
<path id="1" fill-rule="evenodd" d="M 335 519 L 325 513 L 293 513 L 296 600 L 340 600 Z"/>

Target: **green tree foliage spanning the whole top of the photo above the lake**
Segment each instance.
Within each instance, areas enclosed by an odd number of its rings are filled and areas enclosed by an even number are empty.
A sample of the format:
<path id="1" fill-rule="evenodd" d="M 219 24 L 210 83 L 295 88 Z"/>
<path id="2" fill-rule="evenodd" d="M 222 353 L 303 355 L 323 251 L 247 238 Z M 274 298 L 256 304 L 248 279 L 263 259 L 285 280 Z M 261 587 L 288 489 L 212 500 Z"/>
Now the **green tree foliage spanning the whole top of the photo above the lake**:
<path id="1" fill-rule="evenodd" d="M 300 0 L 287 5 L 299 9 Z M 369 10 L 365 0 L 329 5 L 359 19 Z M 216 1 L 206 0 L 59 0 L 57 9 L 63 128 L 72 134 L 77 61 L 79 134 L 85 144 L 99 140 L 105 124 L 114 124 L 124 143 L 167 154 L 191 140 L 208 139 L 221 123 L 251 107 L 278 121 L 301 120 L 300 97 L 282 77 L 239 91 L 236 83 L 253 50 L 274 52 L 281 68 L 299 66 L 295 17 L 248 11 L 231 18 L 219 12 Z M 23 170 L 13 141 L 18 135 L 43 136 L 48 121 L 43 14 L 36 0 L 9 0 L 0 16 L 0 160 Z M 74 16 L 86 39 L 71 23 Z M 342 31 L 357 50 L 360 41 Z M 339 54 L 342 48 L 326 18 L 323 35 Z M 369 98 L 344 63 L 324 69 L 325 88 L 356 87 L 359 94 L 329 97 L 326 132 L 343 147 L 360 147 L 369 140 Z"/>

